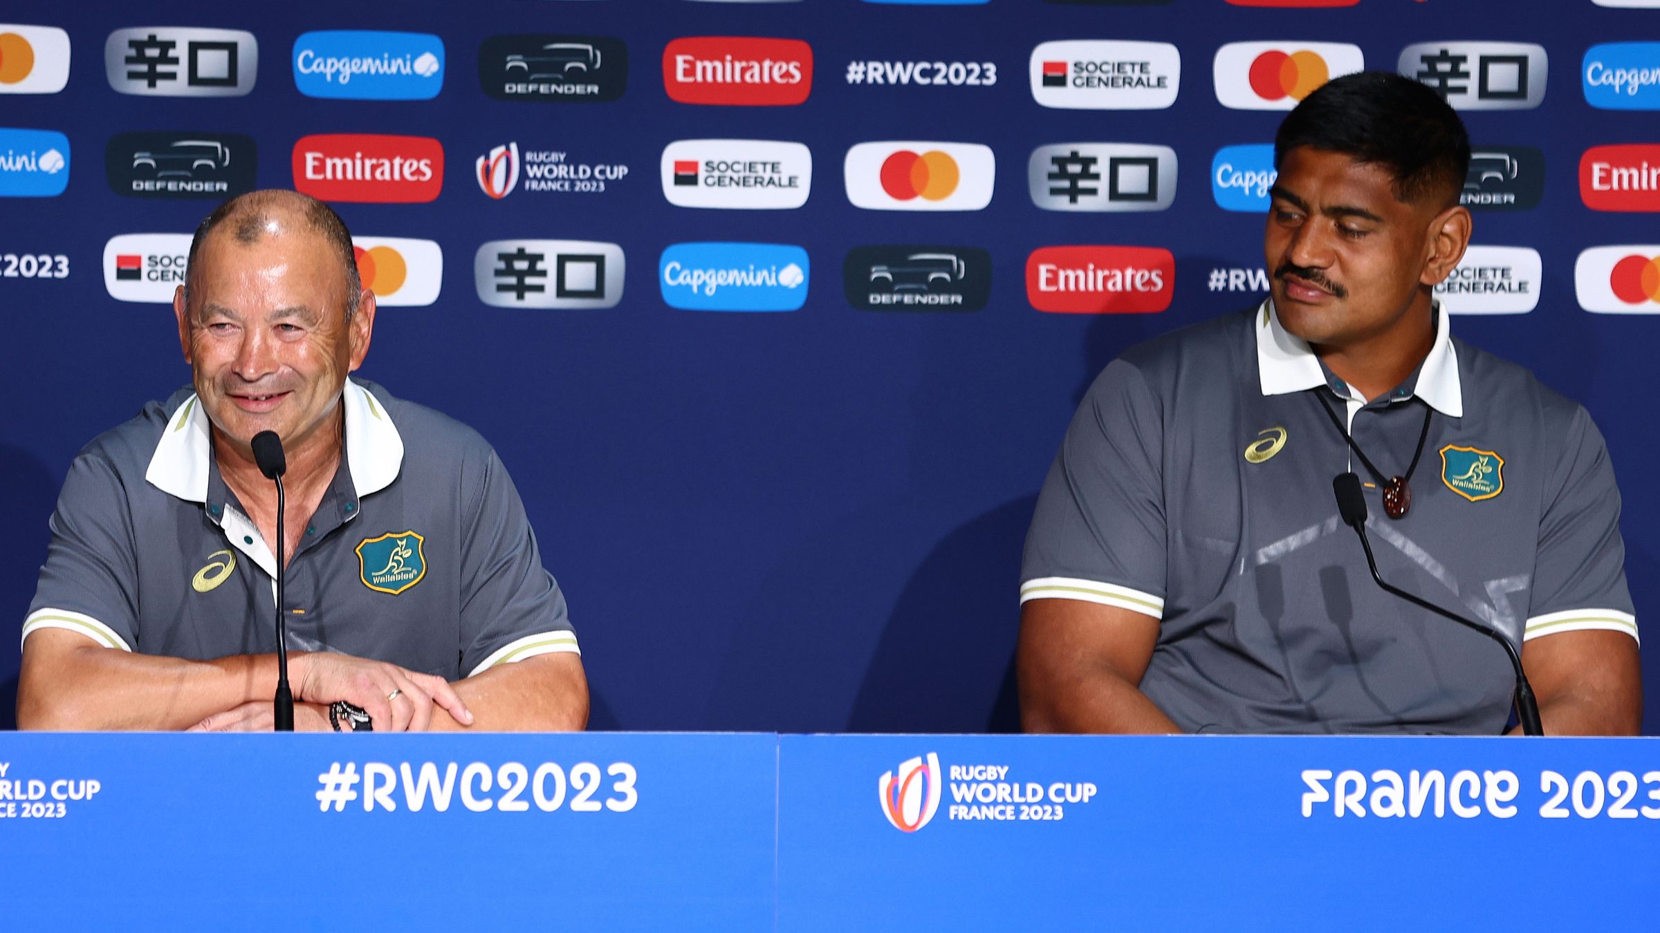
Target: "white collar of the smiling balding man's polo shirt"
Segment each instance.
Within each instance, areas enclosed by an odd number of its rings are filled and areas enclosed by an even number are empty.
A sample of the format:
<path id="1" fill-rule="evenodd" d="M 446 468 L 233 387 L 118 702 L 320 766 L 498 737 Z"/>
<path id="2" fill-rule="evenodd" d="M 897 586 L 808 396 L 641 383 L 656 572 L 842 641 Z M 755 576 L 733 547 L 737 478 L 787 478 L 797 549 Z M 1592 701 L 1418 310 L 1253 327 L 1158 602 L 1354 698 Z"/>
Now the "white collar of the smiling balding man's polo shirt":
<path id="1" fill-rule="evenodd" d="M 342 390 L 342 405 L 352 486 L 359 496 L 378 493 L 397 480 L 403 466 L 403 435 L 375 397 L 350 379 Z M 206 503 L 211 453 L 208 413 L 191 393 L 161 432 L 144 480 L 168 495 Z"/>

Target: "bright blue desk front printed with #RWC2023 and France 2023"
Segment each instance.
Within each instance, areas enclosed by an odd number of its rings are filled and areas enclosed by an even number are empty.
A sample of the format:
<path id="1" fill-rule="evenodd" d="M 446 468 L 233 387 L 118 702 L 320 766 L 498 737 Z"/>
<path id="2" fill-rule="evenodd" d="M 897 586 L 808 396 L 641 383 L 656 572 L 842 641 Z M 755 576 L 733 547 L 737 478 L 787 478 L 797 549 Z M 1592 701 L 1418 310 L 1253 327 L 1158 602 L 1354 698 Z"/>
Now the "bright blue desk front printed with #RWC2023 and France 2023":
<path id="1" fill-rule="evenodd" d="M 1660 740 L 0 734 L 0 928 L 1653 930 Z"/>

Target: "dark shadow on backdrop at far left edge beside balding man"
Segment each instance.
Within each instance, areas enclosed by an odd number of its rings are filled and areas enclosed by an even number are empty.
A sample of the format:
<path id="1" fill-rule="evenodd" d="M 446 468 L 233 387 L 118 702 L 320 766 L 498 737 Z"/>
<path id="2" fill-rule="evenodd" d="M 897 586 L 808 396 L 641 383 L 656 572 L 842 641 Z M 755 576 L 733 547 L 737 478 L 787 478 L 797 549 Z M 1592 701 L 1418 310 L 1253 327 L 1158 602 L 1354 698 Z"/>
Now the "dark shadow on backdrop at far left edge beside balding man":
<path id="1" fill-rule="evenodd" d="M 12 526 L 0 535 L 0 729 L 17 729 L 17 667 L 22 661 L 17 634 L 35 596 L 40 564 L 46 559 L 46 520 L 58 501 L 51 470 L 33 453 L 0 443 L 0 488 L 7 490 Z"/>

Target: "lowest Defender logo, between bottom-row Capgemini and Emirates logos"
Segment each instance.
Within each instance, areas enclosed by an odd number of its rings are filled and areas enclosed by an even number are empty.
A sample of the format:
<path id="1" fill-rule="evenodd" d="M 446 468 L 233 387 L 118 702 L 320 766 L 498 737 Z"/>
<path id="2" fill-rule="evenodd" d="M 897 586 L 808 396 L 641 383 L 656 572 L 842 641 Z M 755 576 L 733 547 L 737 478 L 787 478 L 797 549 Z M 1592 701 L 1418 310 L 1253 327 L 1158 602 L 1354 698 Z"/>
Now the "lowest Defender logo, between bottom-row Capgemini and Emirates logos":
<path id="1" fill-rule="evenodd" d="M 979 310 L 991 297 L 991 254 L 973 246 L 860 246 L 842 266 L 860 310 Z"/>

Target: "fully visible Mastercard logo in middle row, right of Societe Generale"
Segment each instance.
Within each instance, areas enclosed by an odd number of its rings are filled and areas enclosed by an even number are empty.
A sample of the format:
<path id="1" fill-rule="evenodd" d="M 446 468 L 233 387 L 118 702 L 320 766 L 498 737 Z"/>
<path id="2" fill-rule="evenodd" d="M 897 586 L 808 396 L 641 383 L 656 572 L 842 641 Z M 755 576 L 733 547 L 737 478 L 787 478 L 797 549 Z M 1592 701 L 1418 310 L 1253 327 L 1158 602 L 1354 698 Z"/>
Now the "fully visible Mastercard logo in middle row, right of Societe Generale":
<path id="1" fill-rule="evenodd" d="M 842 161 L 847 199 L 867 211 L 981 211 L 996 158 L 978 143 L 858 143 Z"/>

